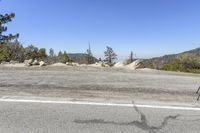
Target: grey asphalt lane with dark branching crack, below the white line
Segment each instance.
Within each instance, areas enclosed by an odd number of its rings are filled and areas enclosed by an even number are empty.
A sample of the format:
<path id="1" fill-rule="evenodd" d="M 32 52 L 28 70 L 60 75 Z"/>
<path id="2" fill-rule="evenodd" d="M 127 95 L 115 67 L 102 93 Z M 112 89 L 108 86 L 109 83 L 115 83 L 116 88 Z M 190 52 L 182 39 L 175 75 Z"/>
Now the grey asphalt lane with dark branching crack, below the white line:
<path id="1" fill-rule="evenodd" d="M 199 133 L 200 111 L 0 102 L 2 133 Z"/>

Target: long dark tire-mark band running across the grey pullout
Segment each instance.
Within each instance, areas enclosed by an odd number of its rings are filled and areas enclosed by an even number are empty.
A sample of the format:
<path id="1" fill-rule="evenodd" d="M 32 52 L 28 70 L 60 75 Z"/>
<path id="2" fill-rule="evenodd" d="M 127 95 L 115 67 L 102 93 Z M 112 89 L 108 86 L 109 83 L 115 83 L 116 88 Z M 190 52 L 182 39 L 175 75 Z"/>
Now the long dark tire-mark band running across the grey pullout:
<path id="1" fill-rule="evenodd" d="M 118 91 L 128 93 L 148 93 L 148 94 L 169 94 L 169 95 L 188 95 L 194 96 L 192 91 L 178 91 L 178 90 L 166 90 L 163 88 L 142 88 L 142 87 L 115 87 L 112 85 L 95 85 L 95 84 L 71 84 L 68 86 L 61 86 L 55 84 L 9 84 L 0 83 L 0 88 L 18 88 L 18 89 L 61 89 L 61 90 L 97 90 L 97 91 Z"/>

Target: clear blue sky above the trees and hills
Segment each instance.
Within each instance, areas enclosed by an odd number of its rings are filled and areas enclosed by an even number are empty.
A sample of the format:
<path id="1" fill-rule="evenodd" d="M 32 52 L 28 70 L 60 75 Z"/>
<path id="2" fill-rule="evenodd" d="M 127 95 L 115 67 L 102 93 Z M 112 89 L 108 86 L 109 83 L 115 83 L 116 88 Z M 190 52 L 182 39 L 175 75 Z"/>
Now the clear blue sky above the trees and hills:
<path id="1" fill-rule="evenodd" d="M 200 47 L 199 0 L 1 0 L 0 13 L 16 13 L 9 33 L 24 46 L 119 59 L 132 50 L 150 58 Z"/>

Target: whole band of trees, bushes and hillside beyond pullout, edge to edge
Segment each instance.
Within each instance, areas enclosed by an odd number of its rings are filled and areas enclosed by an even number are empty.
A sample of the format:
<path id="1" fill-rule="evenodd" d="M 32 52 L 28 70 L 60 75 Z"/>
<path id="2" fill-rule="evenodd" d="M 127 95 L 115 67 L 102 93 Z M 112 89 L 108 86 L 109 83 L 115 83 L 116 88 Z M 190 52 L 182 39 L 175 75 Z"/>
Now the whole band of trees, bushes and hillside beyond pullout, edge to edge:
<path id="1" fill-rule="evenodd" d="M 114 66 L 117 60 L 117 54 L 114 50 L 107 46 L 104 51 L 104 59 L 97 59 L 93 56 L 90 43 L 85 53 L 69 54 L 66 51 L 59 51 L 55 53 L 52 48 L 47 51 L 45 48 L 38 48 L 34 45 L 23 45 L 18 41 L 19 34 L 8 34 L 5 35 L 7 23 L 11 22 L 15 17 L 14 13 L 0 14 L 0 63 L 4 62 L 15 62 L 23 63 L 27 60 L 35 61 L 35 64 L 39 64 L 37 61 L 43 61 L 46 64 L 54 63 L 79 63 L 79 64 L 95 64 L 99 62 L 102 67 Z M 123 61 L 123 65 L 127 66 L 142 66 L 157 70 L 166 71 L 178 71 L 178 72 L 190 72 L 200 73 L 200 49 L 194 49 L 180 54 L 165 55 L 163 57 L 146 59 L 144 61 L 136 61 L 134 54 L 131 51 L 130 56 L 127 60 Z M 132 64 L 136 61 L 135 64 Z M 117 64 L 118 66 L 123 66 Z M 138 65 L 139 64 L 139 65 Z M 141 65 L 142 64 L 142 65 Z"/>

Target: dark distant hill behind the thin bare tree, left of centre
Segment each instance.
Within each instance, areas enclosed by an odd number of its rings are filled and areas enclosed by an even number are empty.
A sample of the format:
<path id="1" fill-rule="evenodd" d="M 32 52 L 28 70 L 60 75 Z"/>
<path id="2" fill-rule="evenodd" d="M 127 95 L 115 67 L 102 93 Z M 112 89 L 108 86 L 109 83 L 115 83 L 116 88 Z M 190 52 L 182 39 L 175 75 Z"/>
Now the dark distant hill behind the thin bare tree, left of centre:
<path id="1" fill-rule="evenodd" d="M 79 64 L 85 64 L 86 63 L 85 57 L 87 56 L 87 54 L 84 54 L 84 53 L 69 53 L 68 56 L 71 60 L 73 60 L 74 62 L 78 62 Z M 93 57 L 93 60 L 94 60 L 94 62 L 97 61 L 97 59 L 95 57 Z"/>

